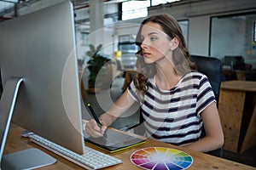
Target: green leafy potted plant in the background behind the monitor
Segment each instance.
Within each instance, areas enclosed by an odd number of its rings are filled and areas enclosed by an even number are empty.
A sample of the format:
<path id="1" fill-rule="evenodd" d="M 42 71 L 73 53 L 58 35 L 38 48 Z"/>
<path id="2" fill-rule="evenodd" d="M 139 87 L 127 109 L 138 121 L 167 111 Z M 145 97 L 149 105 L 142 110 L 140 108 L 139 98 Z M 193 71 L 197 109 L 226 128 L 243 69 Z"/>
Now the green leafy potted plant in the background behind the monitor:
<path id="1" fill-rule="evenodd" d="M 96 48 L 94 45 L 90 44 L 90 51 L 86 54 L 90 57 L 87 62 L 87 68 L 90 71 L 89 80 L 88 80 L 88 90 L 89 93 L 97 93 L 100 91 L 102 87 L 102 81 L 96 82 L 96 78 L 100 77 L 103 78 L 104 76 L 101 73 L 101 69 L 104 69 L 104 65 L 107 62 L 107 58 L 103 57 L 102 54 L 99 54 L 99 51 L 102 48 L 102 44 L 98 45 Z M 101 71 L 101 72 L 100 72 Z"/>

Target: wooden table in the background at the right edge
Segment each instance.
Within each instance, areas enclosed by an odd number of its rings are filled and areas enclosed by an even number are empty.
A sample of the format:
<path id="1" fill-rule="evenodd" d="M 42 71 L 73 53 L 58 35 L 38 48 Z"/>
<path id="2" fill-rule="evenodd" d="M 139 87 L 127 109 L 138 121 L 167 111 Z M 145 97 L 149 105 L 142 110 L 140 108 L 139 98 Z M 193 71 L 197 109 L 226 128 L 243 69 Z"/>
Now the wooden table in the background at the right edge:
<path id="1" fill-rule="evenodd" d="M 256 144 L 256 82 L 221 82 L 218 111 L 224 150 L 243 152 Z"/>

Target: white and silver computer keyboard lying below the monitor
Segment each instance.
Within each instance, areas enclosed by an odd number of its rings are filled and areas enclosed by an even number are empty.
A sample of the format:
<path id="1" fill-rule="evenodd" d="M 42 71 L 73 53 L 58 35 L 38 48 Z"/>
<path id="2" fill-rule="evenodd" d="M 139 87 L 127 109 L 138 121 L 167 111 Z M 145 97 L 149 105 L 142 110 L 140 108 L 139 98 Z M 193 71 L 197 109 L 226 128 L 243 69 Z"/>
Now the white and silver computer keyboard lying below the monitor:
<path id="1" fill-rule="evenodd" d="M 107 154 L 104 154 L 97 150 L 93 150 L 87 146 L 84 146 L 84 155 L 79 155 L 72 150 L 67 150 L 67 148 L 62 147 L 59 144 L 55 144 L 48 139 L 44 139 L 37 134 L 31 134 L 28 137 L 31 139 L 32 142 L 41 145 L 47 150 L 50 150 L 55 154 L 66 158 L 69 161 L 73 161 L 80 167 L 84 167 L 86 169 L 99 169 L 122 163 L 121 160 L 113 156 L 108 156 Z"/>

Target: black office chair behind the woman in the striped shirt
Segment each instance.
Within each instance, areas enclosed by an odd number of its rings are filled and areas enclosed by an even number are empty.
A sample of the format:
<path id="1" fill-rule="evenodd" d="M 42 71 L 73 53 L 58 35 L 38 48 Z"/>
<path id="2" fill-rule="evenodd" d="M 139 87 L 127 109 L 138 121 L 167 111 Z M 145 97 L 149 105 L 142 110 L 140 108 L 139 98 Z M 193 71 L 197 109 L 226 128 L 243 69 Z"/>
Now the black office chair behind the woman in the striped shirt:
<path id="1" fill-rule="evenodd" d="M 205 74 L 208 77 L 210 84 L 212 85 L 212 91 L 215 95 L 218 107 L 218 97 L 221 82 L 221 61 L 220 59 L 213 57 L 205 57 L 199 55 L 190 55 L 190 60 L 195 63 L 197 71 Z M 205 129 L 202 128 L 201 138 L 206 136 Z M 222 157 L 223 146 L 218 150 L 212 150 L 207 152 L 212 156 Z"/>

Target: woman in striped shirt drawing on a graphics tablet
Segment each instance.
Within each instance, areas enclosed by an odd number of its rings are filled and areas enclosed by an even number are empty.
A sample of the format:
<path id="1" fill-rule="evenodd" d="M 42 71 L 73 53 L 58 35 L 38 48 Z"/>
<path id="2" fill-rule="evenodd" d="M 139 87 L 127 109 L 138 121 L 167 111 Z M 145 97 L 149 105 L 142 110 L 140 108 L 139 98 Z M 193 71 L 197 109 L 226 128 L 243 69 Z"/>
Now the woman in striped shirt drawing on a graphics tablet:
<path id="1" fill-rule="evenodd" d="M 212 87 L 189 61 L 177 20 L 168 14 L 143 20 L 136 42 L 140 47 L 136 77 L 115 105 L 100 116 L 103 126 L 90 120 L 86 132 L 102 136 L 137 101 L 147 137 L 201 152 L 220 148 L 224 134 Z M 200 139 L 202 126 L 206 137 Z"/>

